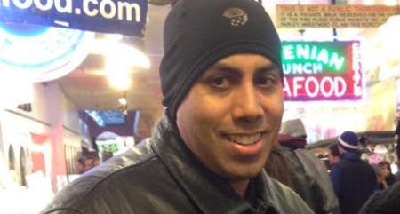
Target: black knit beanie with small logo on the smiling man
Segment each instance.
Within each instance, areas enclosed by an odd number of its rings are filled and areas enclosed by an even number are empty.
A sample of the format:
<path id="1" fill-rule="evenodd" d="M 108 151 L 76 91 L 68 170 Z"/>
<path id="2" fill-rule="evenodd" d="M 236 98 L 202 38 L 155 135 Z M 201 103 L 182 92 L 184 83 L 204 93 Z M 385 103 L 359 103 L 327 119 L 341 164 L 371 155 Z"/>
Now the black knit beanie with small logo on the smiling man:
<path id="1" fill-rule="evenodd" d="M 254 0 L 179 0 L 164 23 L 160 65 L 163 104 L 172 122 L 180 102 L 203 72 L 236 53 L 281 62 L 281 42 L 265 9 Z"/>

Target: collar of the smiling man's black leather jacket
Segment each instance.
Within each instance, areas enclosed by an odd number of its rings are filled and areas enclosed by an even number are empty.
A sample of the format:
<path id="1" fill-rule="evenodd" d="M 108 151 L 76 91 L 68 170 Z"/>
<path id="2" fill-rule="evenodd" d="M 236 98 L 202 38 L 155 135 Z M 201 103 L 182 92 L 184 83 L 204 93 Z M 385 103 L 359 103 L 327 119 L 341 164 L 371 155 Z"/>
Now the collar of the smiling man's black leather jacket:
<path id="1" fill-rule="evenodd" d="M 156 155 L 164 162 L 172 177 L 199 210 L 206 214 L 235 214 L 244 213 L 245 210 L 254 210 L 249 202 L 236 194 L 225 178 L 206 169 L 196 159 L 180 139 L 177 129 L 169 122 L 166 115 L 163 116 L 156 129 L 152 144 Z M 265 174 L 254 178 L 252 182 L 263 184 L 263 178 L 266 178 Z M 264 202 L 267 201 L 265 189 L 265 186 L 258 188 L 259 198 Z"/>

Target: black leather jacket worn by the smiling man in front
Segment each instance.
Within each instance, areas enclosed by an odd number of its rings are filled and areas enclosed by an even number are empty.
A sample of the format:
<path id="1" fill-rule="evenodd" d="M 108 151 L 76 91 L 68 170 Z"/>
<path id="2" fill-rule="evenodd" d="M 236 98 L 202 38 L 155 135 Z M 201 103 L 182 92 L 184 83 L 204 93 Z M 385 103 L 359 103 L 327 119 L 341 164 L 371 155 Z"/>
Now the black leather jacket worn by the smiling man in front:
<path id="1" fill-rule="evenodd" d="M 253 178 L 255 207 L 206 170 L 164 115 L 153 139 L 100 164 L 64 187 L 41 213 L 310 214 L 297 194 L 264 171 Z"/>

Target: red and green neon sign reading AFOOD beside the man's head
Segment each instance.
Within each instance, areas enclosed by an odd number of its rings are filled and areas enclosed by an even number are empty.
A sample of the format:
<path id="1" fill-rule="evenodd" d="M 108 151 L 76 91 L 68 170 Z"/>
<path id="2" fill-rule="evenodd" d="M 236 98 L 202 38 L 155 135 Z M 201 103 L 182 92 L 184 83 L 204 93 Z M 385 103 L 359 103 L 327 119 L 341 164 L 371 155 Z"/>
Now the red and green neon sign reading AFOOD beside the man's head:
<path id="1" fill-rule="evenodd" d="M 362 99 L 358 41 L 283 42 L 282 59 L 285 100 Z"/>

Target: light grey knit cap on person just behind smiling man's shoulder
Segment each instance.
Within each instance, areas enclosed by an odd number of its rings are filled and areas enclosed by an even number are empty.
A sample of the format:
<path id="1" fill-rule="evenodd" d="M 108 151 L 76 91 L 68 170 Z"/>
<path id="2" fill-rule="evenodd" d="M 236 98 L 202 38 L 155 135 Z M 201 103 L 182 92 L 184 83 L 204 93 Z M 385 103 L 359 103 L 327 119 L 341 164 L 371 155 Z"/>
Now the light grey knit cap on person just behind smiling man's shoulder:
<path id="1" fill-rule="evenodd" d="M 277 136 L 279 144 L 292 149 L 304 148 L 307 145 L 307 133 L 300 119 L 292 119 L 281 124 Z"/>

